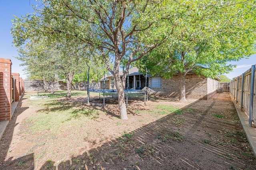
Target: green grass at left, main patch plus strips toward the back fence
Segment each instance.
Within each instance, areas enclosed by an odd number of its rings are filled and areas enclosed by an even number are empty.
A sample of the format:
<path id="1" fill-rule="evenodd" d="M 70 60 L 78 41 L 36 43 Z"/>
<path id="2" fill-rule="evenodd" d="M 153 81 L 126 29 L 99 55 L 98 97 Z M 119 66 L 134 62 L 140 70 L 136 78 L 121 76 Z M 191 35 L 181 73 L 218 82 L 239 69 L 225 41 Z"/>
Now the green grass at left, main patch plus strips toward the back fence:
<path id="1" fill-rule="evenodd" d="M 49 94 L 49 92 L 38 92 L 40 95 Z M 87 107 L 83 103 L 70 103 L 60 101 L 66 91 L 56 91 L 50 95 L 50 99 L 30 100 L 30 105 L 36 105 L 37 113 L 27 118 L 23 125 L 26 128 L 22 132 L 29 134 L 40 134 L 47 132 L 48 136 L 58 135 L 69 128 L 77 128 L 86 121 L 96 120 L 100 110 Z M 72 91 L 73 95 L 85 95 L 86 91 Z M 25 98 L 37 94 L 36 91 L 26 92 Z"/>

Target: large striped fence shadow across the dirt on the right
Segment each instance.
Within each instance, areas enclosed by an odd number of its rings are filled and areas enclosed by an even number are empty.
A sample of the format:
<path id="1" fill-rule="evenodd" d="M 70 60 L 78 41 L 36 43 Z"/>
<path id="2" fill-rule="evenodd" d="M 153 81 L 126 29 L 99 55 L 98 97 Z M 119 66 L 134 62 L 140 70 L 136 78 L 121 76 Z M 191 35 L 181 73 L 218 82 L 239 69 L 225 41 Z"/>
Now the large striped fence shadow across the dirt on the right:
<path id="1" fill-rule="evenodd" d="M 93 142 L 93 141 L 92 141 Z M 228 94 L 196 101 L 122 137 L 41 169 L 255 169 Z"/>

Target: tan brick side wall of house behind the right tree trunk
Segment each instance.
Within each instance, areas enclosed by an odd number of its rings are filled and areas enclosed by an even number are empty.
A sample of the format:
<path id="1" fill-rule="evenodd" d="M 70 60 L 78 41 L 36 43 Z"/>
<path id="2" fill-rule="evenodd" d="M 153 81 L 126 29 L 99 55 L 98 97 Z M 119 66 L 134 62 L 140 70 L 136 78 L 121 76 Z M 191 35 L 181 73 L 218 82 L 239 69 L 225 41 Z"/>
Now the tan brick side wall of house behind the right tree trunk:
<path id="1" fill-rule="evenodd" d="M 213 95 L 216 90 L 213 88 L 213 86 L 210 86 L 210 84 L 215 82 L 215 80 L 212 82 L 211 81 L 212 79 L 210 78 L 206 78 L 204 76 L 198 77 L 196 74 L 186 75 L 186 98 L 204 100 L 209 99 L 209 96 Z M 149 79 L 148 85 L 152 88 L 151 78 Z M 152 89 L 156 91 L 155 95 L 178 99 L 180 97 L 180 79 L 177 75 L 169 80 L 162 78 L 161 87 L 154 87 Z"/>

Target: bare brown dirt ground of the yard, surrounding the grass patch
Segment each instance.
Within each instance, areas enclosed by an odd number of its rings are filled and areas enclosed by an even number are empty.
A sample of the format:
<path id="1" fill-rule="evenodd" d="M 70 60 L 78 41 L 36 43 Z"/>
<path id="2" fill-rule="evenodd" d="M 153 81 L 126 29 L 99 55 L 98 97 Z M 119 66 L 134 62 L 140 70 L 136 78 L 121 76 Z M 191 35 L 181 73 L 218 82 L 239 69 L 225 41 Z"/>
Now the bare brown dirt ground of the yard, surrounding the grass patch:
<path id="1" fill-rule="evenodd" d="M 81 101 L 86 103 L 82 97 L 68 102 Z M 181 110 L 156 115 L 150 112 L 156 105 Z M 30 135 L 24 130 L 28 128 L 25 120 L 39 113 L 25 96 L 0 141 L 0 169 L 256 169 L 256 158 L 229 94 L 184 103 L 156 99 L 146 106 L 144 101 L 130 100 L 129 120 L 118 118 L 116 99 L 106 100 L 103 111 L 97 119 L 59 136 L 46 138 L 48 131 Z"/>

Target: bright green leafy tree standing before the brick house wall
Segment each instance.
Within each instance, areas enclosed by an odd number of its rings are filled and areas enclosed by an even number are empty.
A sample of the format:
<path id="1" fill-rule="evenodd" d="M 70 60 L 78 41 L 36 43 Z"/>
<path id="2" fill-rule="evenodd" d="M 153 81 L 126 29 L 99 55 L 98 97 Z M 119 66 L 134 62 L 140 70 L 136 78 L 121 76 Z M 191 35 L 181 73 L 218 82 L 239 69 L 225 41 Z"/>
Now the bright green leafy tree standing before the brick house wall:
<path id="1" fill-rule="evenodd" d="M 180 101 L 186 101 L 185 76 L 189 72 L 213 78 L 232 70 L 228 61 L 256 52 L 252 0 L 168 0 L 166 4 L 161 17 L 172 34 L 144 63 L 152 75 L 180 77 Z"/>

